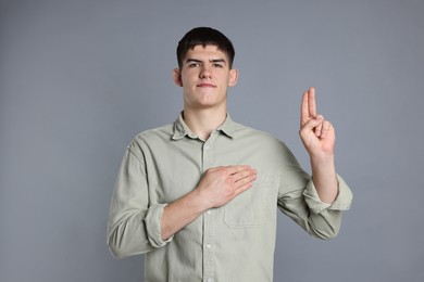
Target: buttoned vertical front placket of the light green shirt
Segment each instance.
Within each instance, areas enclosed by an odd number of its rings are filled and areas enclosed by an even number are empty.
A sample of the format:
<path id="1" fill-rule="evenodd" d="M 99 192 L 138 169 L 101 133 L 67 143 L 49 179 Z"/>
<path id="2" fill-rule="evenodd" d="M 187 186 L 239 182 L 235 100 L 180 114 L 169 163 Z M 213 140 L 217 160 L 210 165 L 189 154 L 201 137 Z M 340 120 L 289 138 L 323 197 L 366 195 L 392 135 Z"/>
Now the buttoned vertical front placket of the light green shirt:
<path id="1" fill-rule="evenodd" d="M 213 132 L 214 133 L 214 132 Z M 214 134 L 203 143 L 202 165 L 203 172 L 213 165 L 213 140 Z M 214 282 L 214 221 L 213 209 L 208 209 L 203 217 L 203 282 Z"/>

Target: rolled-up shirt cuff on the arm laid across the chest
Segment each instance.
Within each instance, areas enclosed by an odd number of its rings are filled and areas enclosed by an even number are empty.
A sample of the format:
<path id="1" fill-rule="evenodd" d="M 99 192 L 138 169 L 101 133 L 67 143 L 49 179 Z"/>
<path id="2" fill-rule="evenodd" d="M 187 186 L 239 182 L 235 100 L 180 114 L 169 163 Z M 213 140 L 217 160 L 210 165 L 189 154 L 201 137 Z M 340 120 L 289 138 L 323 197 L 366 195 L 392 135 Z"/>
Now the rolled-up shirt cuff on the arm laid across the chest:
<path id="1" fill-rule="evenodd" d="M 165 208 L 167 204 L 157 204 L 150 206 L 146 218 L 146 229 L 147 229 L 147 235 L 150 241 L 150 244 L 153 247 L 162 247 L 170 243 L 174 235 L 169 238 L 167 240 L 162 240 L 162 225 L 161 219 L 163 215 L 163 209 Z"/>

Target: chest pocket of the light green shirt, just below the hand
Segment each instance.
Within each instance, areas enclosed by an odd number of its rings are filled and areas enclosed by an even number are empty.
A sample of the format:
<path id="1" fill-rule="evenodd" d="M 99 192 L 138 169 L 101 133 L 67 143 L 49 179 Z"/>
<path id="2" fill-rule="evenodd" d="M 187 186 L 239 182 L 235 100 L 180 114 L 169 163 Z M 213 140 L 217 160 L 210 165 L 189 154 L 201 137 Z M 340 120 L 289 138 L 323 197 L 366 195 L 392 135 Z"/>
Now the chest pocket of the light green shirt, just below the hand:
<path id="1" fill-rule="evenodd" d="M 271 177 L 259 178 L 252 188 L 224 206 L 224 222 L 229 228 L 259 228 L 262 226 L 272 197 Z M 274 208 L 276 208 L 274 206 Z"/>

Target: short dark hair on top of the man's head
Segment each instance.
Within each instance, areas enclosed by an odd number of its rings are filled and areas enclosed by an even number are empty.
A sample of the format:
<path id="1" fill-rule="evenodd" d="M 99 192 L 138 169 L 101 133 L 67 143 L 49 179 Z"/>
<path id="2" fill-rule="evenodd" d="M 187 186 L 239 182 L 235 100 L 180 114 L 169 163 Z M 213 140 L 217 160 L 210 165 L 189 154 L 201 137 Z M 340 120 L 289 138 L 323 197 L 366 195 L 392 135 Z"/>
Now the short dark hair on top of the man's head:
<path id="1" fill-rule="evenodd" d="M 216 46 L 219 50 L 227 55 L 229 68 L 232 68 L 235 56 L 233 43 L 224 34 L 211 27 L 196 27 L 179 40 L 176 50 L 179 67 L 183 66 L 183 60 L 188 50 L 195 49 L 196 46 Z"/>

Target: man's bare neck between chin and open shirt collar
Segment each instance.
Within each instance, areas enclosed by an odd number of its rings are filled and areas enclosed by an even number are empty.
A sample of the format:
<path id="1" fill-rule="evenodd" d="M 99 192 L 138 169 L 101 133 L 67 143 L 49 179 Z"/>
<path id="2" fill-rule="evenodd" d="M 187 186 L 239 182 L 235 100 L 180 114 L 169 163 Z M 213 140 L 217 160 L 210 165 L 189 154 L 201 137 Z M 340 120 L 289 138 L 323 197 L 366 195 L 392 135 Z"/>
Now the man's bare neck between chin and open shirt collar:
<path id="1" fill-rule="evenodd" d="M 226 118 L 226 111 L 213 108 L 202 111 L 184 110 L 184 121 L 200 139 L 208 140 L 212 131 L 220 127 Z"/>

